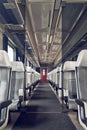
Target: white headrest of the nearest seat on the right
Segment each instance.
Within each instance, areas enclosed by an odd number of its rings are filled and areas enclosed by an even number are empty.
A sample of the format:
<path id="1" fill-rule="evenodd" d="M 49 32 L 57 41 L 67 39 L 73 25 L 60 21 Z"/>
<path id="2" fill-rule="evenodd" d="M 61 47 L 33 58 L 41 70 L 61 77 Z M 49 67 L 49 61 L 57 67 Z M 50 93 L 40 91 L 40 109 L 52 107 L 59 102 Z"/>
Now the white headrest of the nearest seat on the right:
<path id="1" fill-rule="evenodd" d="M 87 67 L 87 50 L 82 50 L 80 51 L 77 62 L 76 62 L 77 67 Z"/>

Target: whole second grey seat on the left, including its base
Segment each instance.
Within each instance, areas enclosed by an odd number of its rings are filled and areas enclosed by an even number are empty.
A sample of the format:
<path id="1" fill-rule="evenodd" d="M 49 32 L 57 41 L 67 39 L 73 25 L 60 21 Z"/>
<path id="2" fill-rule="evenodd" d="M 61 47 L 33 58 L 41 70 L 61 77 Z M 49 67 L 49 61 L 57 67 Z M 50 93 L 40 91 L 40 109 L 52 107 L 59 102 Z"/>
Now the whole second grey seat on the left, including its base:
<path id="1" fill-rule="evenodd" d="M 11 62 L 12 78 L 11 78 L 11 94 L 12 104 L 10 110 L 18 110 L 20 103 L 24 98 L 24 66 L 20 61 Z"/>

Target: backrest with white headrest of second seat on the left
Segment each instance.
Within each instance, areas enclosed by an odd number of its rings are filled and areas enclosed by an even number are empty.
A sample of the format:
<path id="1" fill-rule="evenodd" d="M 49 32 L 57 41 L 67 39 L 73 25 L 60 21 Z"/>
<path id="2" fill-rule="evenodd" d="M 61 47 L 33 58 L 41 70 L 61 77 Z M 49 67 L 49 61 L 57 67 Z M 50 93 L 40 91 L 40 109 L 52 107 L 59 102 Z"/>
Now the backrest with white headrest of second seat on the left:
<path id="1" fill-rule="evenodd" d="M 19 96 L 23 95 L 24 89 L 24 66 L 22 62 L 14 61 L 12 65 L 12 78 L 11 78 L 11 99 L 19 100 Z"/>

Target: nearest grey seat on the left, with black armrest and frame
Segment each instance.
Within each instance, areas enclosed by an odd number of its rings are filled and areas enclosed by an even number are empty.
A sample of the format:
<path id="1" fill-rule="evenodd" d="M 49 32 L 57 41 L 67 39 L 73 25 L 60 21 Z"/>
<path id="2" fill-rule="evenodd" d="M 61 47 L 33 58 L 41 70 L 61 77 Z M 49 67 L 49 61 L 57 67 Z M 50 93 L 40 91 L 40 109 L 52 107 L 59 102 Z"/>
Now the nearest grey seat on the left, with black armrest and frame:
<path id="1" fill-rule="evenodd" d="M 0 129 L 8 122 L 11 64 L 7 52 L 0 50 Z"/>

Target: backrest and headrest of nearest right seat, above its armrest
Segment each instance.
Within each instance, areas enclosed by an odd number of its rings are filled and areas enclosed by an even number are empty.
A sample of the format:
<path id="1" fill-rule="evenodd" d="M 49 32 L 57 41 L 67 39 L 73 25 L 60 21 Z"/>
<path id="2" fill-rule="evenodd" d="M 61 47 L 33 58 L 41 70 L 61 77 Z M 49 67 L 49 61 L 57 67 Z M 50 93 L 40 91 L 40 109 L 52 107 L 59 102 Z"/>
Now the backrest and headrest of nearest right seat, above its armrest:
<path id="1" fill-rule="evenodd" d="M 78 98 L 87 101 L 87 50 L 79 53 L 76 67 Z"/>

